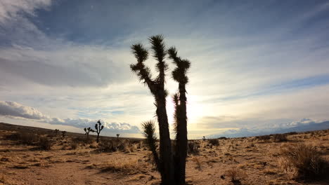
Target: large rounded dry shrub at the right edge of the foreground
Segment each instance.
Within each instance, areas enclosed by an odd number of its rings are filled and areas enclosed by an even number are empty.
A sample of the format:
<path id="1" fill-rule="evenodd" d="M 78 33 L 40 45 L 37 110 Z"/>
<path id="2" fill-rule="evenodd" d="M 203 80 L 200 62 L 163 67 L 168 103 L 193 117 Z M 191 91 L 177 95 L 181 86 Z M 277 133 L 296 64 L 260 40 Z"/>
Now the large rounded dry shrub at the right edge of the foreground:
<path id="1" fill-rule="evenodd" d="M 316 146 L 296 144 L 280 149 L 279 166 L 289 179 L 323 179 L 328 175 L 328 161 Z"/>

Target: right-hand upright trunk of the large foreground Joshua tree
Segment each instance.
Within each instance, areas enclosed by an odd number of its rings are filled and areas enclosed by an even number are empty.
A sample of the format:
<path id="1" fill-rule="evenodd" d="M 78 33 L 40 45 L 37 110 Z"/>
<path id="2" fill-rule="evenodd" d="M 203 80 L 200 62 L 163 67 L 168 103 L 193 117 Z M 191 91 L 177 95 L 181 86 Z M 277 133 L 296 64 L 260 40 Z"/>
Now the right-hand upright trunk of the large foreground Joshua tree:
<path id="1" fill-rule="evenodd" d="M 191 66 L 190 61 L 177 56 L 176 48 L 168 50 L 169 58 L 176 65 L 172 71 L 172 78 L 179 83 L 179 92 L 174 95 L 175 104 L 175 128 L 176 150 L 175 150 L 175 180 L 177 184 L 185 184 L 185 167 L 188 147 L 187 138 L 187 116 L 186 116 L 186 84 L 188 77 L 186 72 Z"/>

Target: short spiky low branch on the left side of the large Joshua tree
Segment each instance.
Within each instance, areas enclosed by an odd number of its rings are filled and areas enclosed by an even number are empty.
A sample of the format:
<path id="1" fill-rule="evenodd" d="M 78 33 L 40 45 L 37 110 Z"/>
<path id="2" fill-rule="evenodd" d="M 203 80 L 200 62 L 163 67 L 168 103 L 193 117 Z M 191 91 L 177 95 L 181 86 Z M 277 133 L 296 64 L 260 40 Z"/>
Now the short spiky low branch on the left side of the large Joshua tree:
<path id="1" fill-rule="evenodd" d="M 146 137 L 146 144 L 148 145 L 148 149 L 152 151 L 155 166 L 157 167 L 157 170 L 160 171 L 159 156 L 157 155 L 157 146 L 155 145 L 157 137 L 155 136 L 154 121 L 146 121 L 142 123 L 142 127 L 144 136 Z"/>

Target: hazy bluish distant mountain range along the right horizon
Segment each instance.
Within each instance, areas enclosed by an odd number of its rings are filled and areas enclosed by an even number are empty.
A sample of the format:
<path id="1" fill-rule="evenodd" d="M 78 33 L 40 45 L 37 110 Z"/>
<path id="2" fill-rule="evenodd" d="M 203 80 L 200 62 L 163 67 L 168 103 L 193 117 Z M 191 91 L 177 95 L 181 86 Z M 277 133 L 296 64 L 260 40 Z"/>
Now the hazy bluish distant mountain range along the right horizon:
<path id="1" fill-rule="evenodd" d="M 217 137 L 251 137 L 257 135 L 271 135 L 271 134 L 282 134 L 287 132 L 307 132 L 314 130 L 326 130 L 329 129 L 329 121 L 325 121 L 322 123 L 308 123 L 303 125 L 297 125 L 292 128 L 278 128 L 271 131 L 253 131 L 247 129 L 240 130 L 228 130 L 223 134 L 218 135 L 209 135 L 209 138 L 217 138 Z"/>

